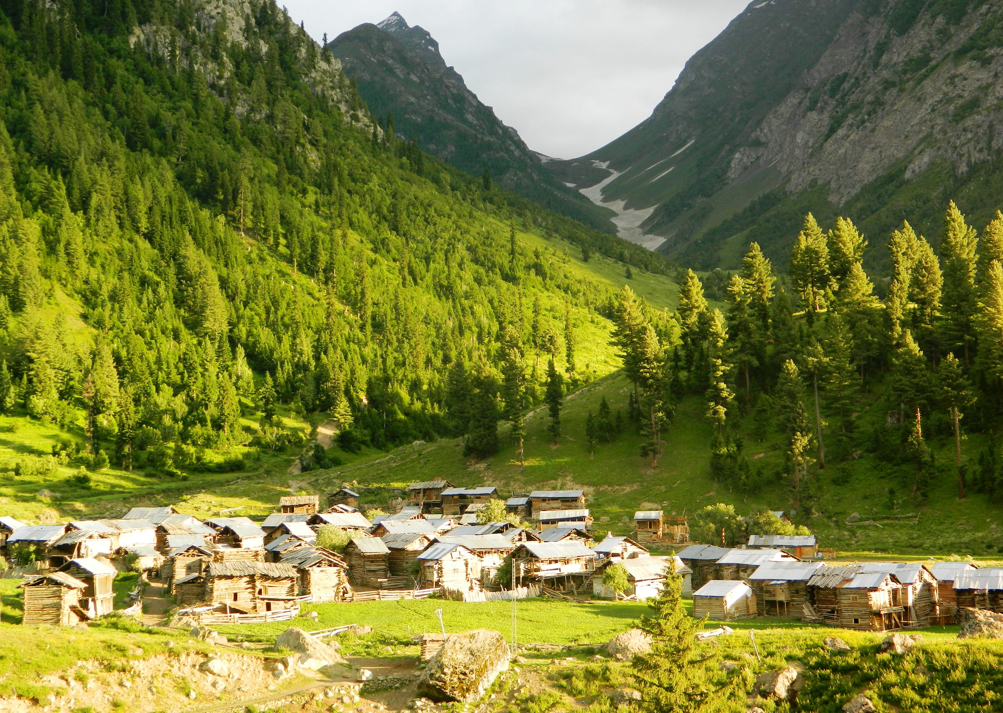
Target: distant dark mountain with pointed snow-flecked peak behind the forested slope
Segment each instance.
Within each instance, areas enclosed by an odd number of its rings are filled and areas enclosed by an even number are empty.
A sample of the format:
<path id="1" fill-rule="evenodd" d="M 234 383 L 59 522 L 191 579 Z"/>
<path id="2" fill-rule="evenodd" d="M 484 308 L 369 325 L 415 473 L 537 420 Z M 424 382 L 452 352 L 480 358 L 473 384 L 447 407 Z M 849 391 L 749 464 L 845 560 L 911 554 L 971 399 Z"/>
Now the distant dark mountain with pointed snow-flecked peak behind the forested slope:
<path id="1" fill-rule="evenodd" d="M 467 172 L 487 168 L 500 186 L 602 230 L 609 214 L 551 175 L 516 129 L 485 106 L 423 28 L 398 13 L 344 32 L 327 49 L 377 116 L 393 113 L 398 136 Z"/>

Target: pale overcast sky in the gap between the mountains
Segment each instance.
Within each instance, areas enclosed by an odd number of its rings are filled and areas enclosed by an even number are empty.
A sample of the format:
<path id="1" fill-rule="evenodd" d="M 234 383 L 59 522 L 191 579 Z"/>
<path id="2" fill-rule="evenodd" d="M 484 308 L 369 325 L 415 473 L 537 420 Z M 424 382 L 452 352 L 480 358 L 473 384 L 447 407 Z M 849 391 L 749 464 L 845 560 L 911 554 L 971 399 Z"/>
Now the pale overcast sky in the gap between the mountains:
<path id="1" fill-rule="evenodd" d="M 748 0 L 281 0 L 318 41 L 396 10 L 531 148 L 588 153 L 647 118 Z"/>

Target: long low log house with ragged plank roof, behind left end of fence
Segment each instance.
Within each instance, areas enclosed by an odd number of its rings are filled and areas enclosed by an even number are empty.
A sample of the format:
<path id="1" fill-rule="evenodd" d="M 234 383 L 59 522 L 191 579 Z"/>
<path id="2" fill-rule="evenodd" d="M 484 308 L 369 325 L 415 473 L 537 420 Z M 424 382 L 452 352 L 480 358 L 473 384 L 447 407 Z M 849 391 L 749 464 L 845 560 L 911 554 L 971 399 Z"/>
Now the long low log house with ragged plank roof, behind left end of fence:
<path id="1" fill-rule="evenodd" d="M 292 565 L 273 562 L 211 562 L 204 575 L 206 601 L 241 612 L 290 609 L 301 598 Z"/>

